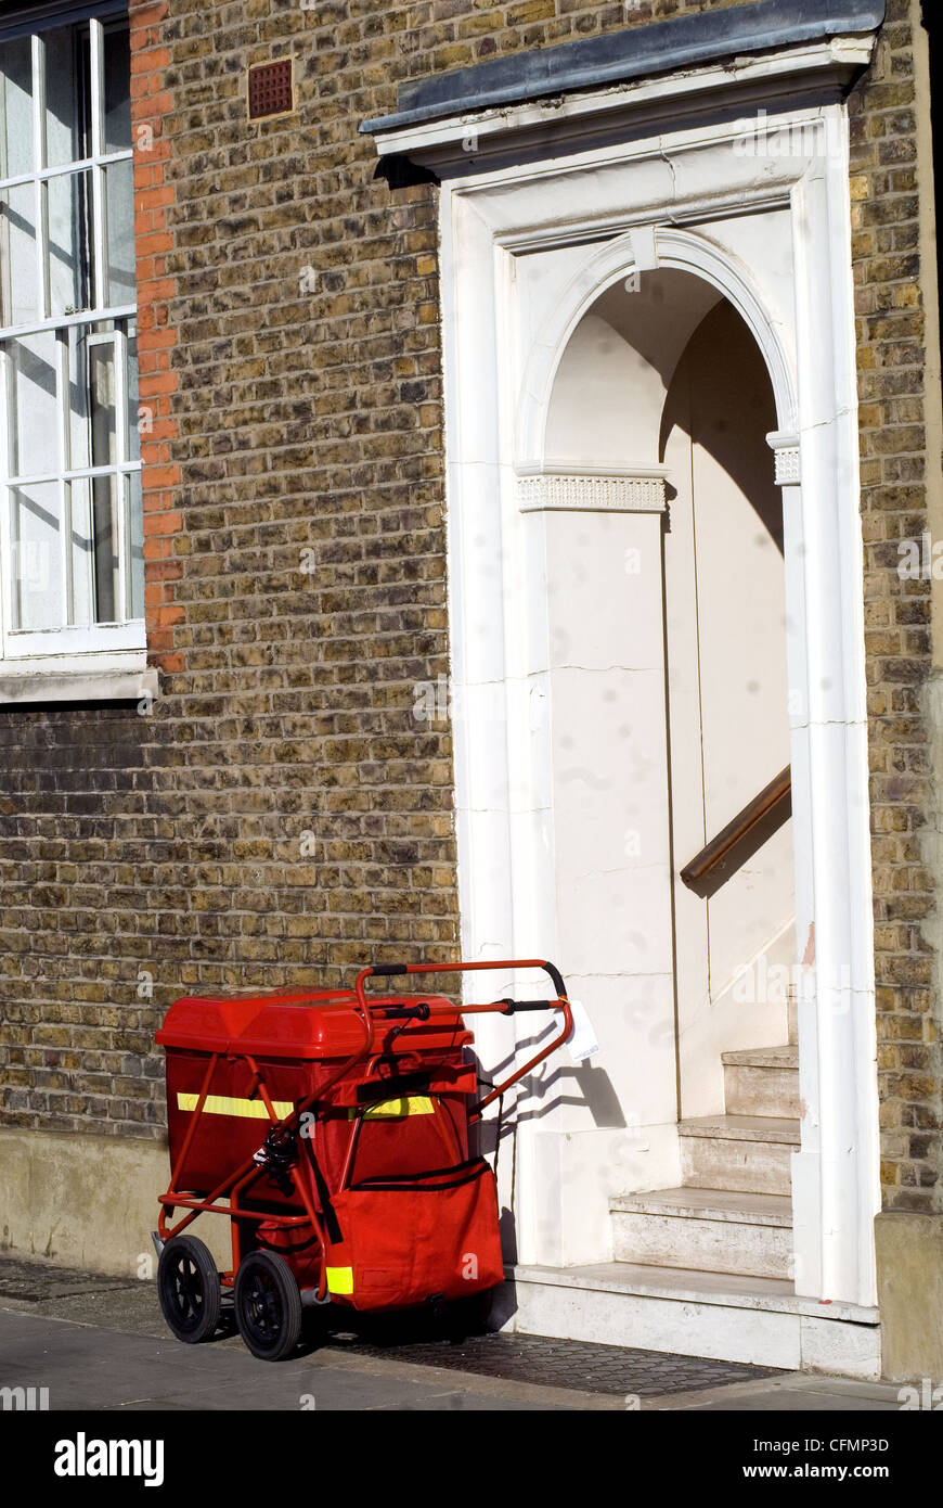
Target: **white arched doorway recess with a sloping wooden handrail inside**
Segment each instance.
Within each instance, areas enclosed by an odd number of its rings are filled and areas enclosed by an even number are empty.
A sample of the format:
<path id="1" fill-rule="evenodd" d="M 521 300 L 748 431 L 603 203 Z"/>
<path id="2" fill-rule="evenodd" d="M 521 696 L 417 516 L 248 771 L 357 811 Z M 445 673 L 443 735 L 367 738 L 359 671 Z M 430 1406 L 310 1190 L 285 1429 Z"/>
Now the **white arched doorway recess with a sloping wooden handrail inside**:
<path id="1" fill-rule="evenodd" d="M 723 1114 L 725 1053 L 788 1045 L 788 801 L 703 876 L 682 878 L 776 777 L 788 778 L 782 496 L 767 442 L 776 428 L 773 386 L 744 320 L 705 279 L 672 268 L 619 279 L 592 302 L 547 410 L 545 469 L 560 492 L 563 478 L 624 487 L 609 511 L 560 502 L 545 519 L 551 665 L 562 656 L 553 719 L 562 728 L 572 710 L 581 724 L 580 760 L 568 759 L 575 743 L 562 731 L 554 759 L 562 935 L 572 909 L 574 933 L 598 936 L 607 970 L 636 976 L 648 1050 L 673 1038 L 684 1122 Z M 628 478 L 661 487 L 663 511 L 633 516 L 640 496 Z M 625 562 L 616 590 L 627 611 L 597 605 L 603 653 L 565 664 L 584 587 L 603 590 L 613 555 Z M 655 695 L 654 676 L 663 677 Z M 615 855 L 621 816 L 624 852 Z M 648 918 L 645 936 L 621 929 L 619 908 Z M 658 918 L 670 927 L 670 1031 L 654 983 L 669 962 Z M 779 1080 L 797 1077 L 795 1054 L 776 1068 Z M 762 1084 L 762 1072 L 755 1077 Z M 782 1110 L 782 1099 L 768 1108 Z M 640 1107 L 640 1119 L 648 1114 Z M 785 1196 L 782 1161 L 774 1187 Z M 723 1169 L 719 1178 L 737 1182 Z"/>

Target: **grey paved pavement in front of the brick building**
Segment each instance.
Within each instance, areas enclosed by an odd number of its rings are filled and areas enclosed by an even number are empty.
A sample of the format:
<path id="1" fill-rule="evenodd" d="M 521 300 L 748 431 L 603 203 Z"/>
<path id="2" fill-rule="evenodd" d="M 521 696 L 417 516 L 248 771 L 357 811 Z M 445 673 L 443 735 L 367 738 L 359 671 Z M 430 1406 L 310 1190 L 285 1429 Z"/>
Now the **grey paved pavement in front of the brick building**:
<path id="1" fill-rule="evenodd" d="M 705 1357 L 452 1335 L 431 1318 L 306 1312 L 298 1354 L 256 1362 L 232 1324 L 181 1345 L 154 1282 L 0 1258 L 0 1407 L 36 1389 L 92 1411 L 901 1411 L 896 1383 L 859 1383 Z M 41 1393 L 41 1389 L 47 1389 Z M 23 1404 L 20 1404 L 23 1407 Z"/>

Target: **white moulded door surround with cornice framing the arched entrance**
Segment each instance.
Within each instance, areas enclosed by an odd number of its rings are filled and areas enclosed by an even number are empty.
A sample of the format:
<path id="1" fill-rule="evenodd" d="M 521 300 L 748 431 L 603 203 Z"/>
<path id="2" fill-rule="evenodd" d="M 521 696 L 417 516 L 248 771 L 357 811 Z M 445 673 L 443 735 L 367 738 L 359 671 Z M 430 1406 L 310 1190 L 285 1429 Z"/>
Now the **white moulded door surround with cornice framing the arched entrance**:
<path id="1" fill-rule="evenodd" d="M 449 579 L 462 952 L 553 956 L 557 939 L 545 564 L 529 532 L 541 508 L 633 511 L 652 520 L 649 466 L 560 480 L 544 439 L 553 379 L 594 300 L 637 270 L 705 279 L 764 353 L 779 416 L 771 464 L 783 486 L 792 823 L 800 977 L 801 1151 L 794 1158 L 800 1294 L 875 1301 L 878 1199 L 871 852 L 865 721 L 862 532 L 845 110 L 836 81 L 869 44 L 803 51 L 801 107 L 789 59 L 753 62 L 749 109 L 722 110 L 729 69 L 703 69 L 691 124 L 672 78 L 606 90 L 645 127 L 521 161 L 514 131 L 560 127 L 559 107 L 404 130 L 381 151 L 441 175 Z M 794 66 L 798 66 L 794 63 Z M 752 69 L 752 72 L 750 72 Z M 690 98 L 691 75 L 684 87 Z M 566 107 L 563 107 L 566 109 Z M 574 104 L 581 130 L 592 101 Z M 600 109 L 603 109 L 600 106 Z M 554 110 L 557 112 L 554 115 Z M 744 125 L 749 122 L 749 127 Z M 499 155 L 505 143 L 505 155 Z M 423 158 L 425 154 L 425 158 Z M 560 493 L 560 487 L 566 496 Z M 556 502 L 554 502 L 556 498 Z M 595 502 L 594 502 L 595 498 Z M 497 715 L 496 715 L 497 709 Z M 812 967 L 813 965 L 813 967 Z M 511 985 L 511 982 L 508 982 Z M 517 982 L 518 988 L 523 985 Z M 527 1022 L 529 1018 L 521 1018 Z M 532 1018 L 530 1018 L 532 1021 Z M 487 1044 L 509 1045 L 511 1022 Z M 532 1025 L 523 1028 L 533 1030 Z M 547 1211 L 578 1220 L 553 1181 L 538 1089 L 518 1136 L 514 1209 L 527 1262 L 604 1261 L 547 1235 Z M 541 1142 L 541 1136 L 544 1142 Z M 568 1133 L 556 1137 L 563 1142 Z M 606 1155 L 601 1148 L 594 1154 Z M 560 1154 L 560 1158 L 563 1154 Z M 661 1166 L 670 1157 L 660 1154 Z M 559 1163 L 563 1167 L 563 1161 Z M 563 1176 L 562 1173 L 559 1175 Z M 587 1169 L 589 1176 L 589 1169 Z M 505 1188 L 508 1190 L 505 1169 Z M 655 1185 L 649 1185 L 655 1187 Z M 553 1221 L 551 1221 L 553 1223 Z M 595 1240 L 595 1238 L 594 1238 Z M 562 1256 L 560 1256 L 562 1250 Z M 571 1253 L 577 1250 L 575 1258 Z"/>

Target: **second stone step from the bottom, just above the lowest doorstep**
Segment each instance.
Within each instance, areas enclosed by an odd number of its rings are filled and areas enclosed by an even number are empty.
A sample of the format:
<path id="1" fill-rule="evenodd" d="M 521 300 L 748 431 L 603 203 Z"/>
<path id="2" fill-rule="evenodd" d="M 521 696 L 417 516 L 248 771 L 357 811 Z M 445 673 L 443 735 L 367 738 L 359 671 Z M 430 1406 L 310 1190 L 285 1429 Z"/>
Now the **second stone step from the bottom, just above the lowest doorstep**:
<path id="1" fill-rule="evenodd" d="M 782 1194 L 660 1188 L 610 1199 L 618 1262 L 789 1277 L 792 1202 Z"/>

